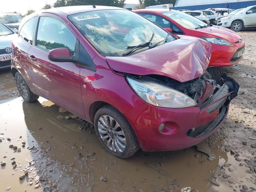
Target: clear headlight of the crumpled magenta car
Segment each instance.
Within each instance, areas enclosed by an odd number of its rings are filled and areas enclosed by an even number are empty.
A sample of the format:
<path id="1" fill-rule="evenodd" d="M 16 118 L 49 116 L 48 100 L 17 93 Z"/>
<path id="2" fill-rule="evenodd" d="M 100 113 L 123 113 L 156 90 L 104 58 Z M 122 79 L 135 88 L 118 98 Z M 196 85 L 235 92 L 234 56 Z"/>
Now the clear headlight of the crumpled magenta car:
<path id="1" fill-rule="evenodd" d="M 197 105 L 192 98 L 170 87 L 149 81 L 138 81 L 128 77 L 126 79 L 140 98 L 154 106 L 184 108 Z"/>

